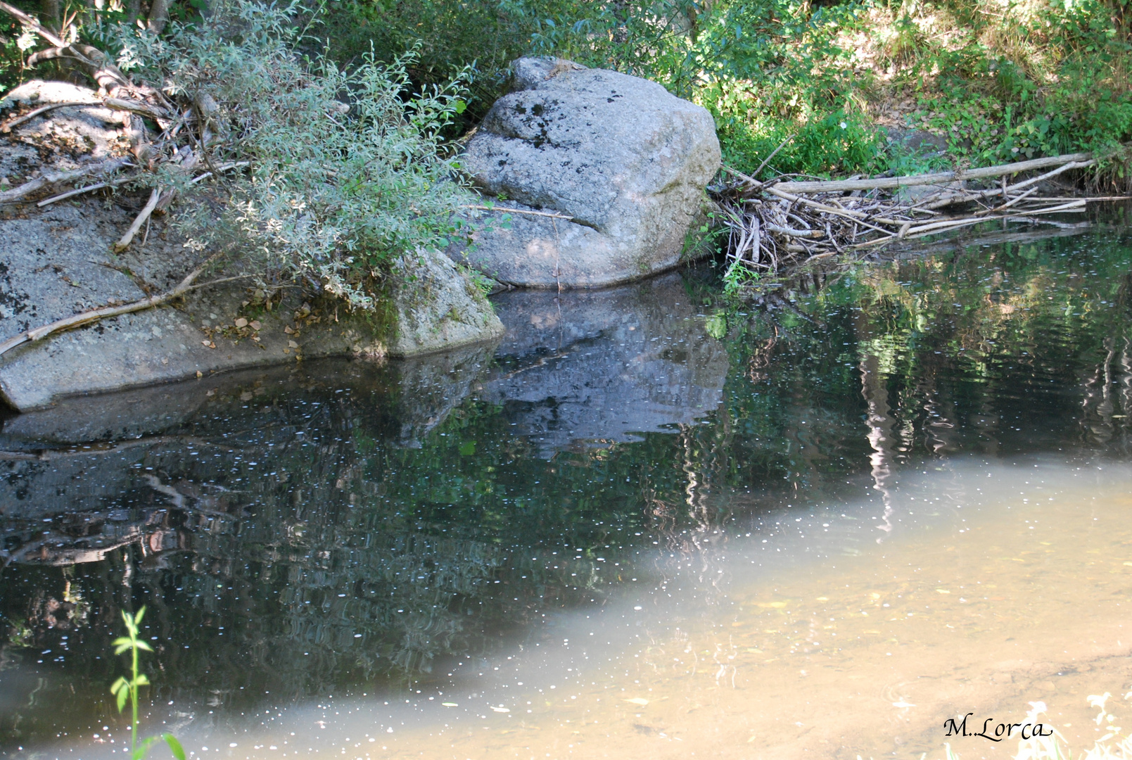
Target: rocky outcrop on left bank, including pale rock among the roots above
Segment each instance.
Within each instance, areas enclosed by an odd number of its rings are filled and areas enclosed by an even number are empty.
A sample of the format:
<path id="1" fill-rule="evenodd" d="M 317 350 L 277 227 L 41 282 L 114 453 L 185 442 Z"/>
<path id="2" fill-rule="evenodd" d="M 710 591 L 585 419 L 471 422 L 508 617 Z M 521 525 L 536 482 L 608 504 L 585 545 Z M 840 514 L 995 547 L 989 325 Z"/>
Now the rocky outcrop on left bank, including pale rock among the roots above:
<path id="1" fill-rule="evenodd" d="M 74 85 L 28 83 L 0 105 L 94 100 Z M 60 108 L 24 122 L 0 145 L 0 185 L 123 155 L 130 123 L 128 114 L 97 105 Z M 179 282 L 197 261 L 160 220 L 129 250 L 111 253 L 139 206 L 129 195 L 113 202 L 84 195 L 43 210 L 27 204 L 0 212 L 0 341 Z M 418 356 L 494 340 L 504 330 L 482 291 L 435 251 L 395 266 L 376 313 L 348 313 L 331 299 L 307 302 L 295 290 L 257 296 L 250 283 L 229 280 L 190 292 L 175 308 L 25 343 L 0 357 L 0 394 L 12 409 L 28 411 L 71 395 L 298 358 Z"/>

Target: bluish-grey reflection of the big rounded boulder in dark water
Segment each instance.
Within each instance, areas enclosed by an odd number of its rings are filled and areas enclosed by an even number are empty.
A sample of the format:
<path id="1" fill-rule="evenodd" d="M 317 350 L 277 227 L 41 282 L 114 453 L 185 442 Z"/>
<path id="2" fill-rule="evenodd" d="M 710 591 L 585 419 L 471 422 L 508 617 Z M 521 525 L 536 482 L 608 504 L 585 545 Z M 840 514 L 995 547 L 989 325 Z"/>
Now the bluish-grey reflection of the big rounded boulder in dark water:
<path id="1" fill-rule="evenodd" d="M 480 398 L 543 455 L 686 424 L 719 407 L 723 345 L 704 331 L 679 273 L 591 291 L 495 299 L 507 334 Z"/>

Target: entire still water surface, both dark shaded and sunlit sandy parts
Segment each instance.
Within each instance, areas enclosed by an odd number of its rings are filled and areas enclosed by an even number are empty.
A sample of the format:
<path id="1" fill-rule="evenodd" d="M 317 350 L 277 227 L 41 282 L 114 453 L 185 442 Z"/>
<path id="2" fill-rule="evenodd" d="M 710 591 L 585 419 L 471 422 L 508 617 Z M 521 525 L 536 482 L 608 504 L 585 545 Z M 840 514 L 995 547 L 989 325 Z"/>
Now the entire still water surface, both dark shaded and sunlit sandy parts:
<path id="1" fill-rule="evenodd" d="M 0 755 L 121 757 L 142 605 L 144 729 L 197 758 L 1004 757 L 944 719 L 1038 699 L 1091 742 L 1132 686 L 1120 212 L 9 419 Z"/>

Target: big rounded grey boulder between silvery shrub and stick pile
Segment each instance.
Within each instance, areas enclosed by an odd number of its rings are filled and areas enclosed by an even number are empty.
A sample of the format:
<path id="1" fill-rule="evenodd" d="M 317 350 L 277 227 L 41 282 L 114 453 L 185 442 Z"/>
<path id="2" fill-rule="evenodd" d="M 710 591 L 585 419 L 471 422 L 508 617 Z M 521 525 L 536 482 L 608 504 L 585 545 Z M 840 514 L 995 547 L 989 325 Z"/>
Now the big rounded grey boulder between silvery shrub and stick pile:
<path id="1" fill-rule="evenodd" d="M 540 213 L 483 212 L 497 223 L 449 255 L 509 284 L 593 288 L 679 263 L 720 150 L 711 114 L 654 82 L 523 58 L 463 164 L 499 207 Z"/>

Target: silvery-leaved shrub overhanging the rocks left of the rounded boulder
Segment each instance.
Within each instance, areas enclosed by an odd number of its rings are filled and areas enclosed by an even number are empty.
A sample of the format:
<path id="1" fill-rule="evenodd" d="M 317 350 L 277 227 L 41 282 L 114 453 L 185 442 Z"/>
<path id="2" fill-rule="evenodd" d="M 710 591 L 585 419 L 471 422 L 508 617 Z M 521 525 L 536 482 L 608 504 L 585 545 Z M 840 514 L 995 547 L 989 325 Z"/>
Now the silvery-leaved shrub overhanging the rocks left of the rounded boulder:
<path id="1" fill-rule="evenodd" d="M 191 100 L 207 120 L 207 161 L 154 177 L 178 188 L 174 219 L 189 245 L 226 251 L 230 268 L 265 283 L 298 281 L 372 308 L 398 257 L 441 248 L 456 231 L 466 190 L 441 130 L 464 108 L 466 72 L 411 94 L 415 51 L 343 69 L 299 52 L 311 46 L 312 27 L 298 26 L 310 17 L 298 2 L 217 0 L 161 37 L 104 34 L 123 70 Z M 239 162 L 220 181 L 190 182 Z"/>

